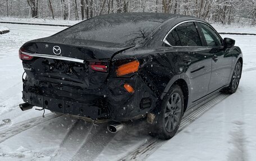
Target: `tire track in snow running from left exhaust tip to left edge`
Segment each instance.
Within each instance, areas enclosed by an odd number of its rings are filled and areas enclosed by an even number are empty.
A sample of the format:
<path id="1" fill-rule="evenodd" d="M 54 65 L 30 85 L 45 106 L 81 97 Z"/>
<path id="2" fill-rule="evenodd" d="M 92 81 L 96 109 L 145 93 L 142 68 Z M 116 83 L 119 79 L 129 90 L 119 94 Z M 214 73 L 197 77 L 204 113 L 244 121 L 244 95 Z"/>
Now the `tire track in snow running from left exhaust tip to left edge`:
<path id="1" fill-rule="evenodd" d="M 29 130 L 30 128 L 40 125 L 41 123 L 47 122 L 53 118 L 60 117 L 62 115 L 60 114 L 46 114 L 44 118 L 42 116 L 35 117 L 31 119 L 27 119 L 26 121 L 22 121 L 20 123 L 15 124 L 14 126 L 11 126 L 7 128 L 6 130 L 0 131 L 0 143 L 10 139 L 11 137 L 20 134 L 21 132 L 25 130 Z"/>

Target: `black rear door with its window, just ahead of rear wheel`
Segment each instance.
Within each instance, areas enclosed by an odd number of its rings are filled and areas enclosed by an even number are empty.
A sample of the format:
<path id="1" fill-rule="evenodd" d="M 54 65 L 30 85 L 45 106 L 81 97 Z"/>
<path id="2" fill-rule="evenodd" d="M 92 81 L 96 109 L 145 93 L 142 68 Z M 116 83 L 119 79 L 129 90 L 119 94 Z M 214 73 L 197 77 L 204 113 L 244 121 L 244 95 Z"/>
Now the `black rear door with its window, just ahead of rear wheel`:
<path id="1" fill-rule="evenodd" d="M 167 44 L 180 54 L 182 63 L 177 66 L 189 77 L 192 102 L 207 95 L 211 78 L 212 57 L 205 51 L 201 39 L 193 21 L 180 24 L 166 37 Z"/>

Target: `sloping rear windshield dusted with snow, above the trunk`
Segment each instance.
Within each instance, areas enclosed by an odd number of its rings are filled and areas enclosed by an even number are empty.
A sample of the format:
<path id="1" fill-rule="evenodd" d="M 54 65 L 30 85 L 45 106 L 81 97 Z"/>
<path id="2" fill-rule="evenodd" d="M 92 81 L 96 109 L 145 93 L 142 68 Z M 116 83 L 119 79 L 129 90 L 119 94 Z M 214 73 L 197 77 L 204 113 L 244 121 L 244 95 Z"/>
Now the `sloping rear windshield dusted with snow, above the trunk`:
<path id="1" fill-rule="evenodd" d="M 100 19 L 81 22 L 56 36 L 100 42 L 135 44 L 146 38 L 161 22 L 152 20 Z"/>

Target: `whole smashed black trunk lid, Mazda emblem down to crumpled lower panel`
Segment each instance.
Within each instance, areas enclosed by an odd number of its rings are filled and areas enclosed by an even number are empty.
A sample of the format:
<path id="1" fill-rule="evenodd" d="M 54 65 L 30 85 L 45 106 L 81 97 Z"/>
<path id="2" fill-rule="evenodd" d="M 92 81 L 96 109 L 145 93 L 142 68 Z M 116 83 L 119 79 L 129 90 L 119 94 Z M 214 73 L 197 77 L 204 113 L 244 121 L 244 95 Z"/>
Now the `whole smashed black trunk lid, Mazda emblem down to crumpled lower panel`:
<path id="1" fill-rule="evenodd" d="M 93 89 L 99 89 L 106 81 L 112 56 L 131 47 L 133 46 L 49 37 L 28 42 L 21 49 L 34 57 L 31 61 L 23 61 L 24 70 L 33 80 L 34 86 L 71 93 L 72 89 L 83 89 L 80 92 L 90 93 Z M 107 71 L 93 70 L 90 65 L 94 62 L 107 66 Z"/>

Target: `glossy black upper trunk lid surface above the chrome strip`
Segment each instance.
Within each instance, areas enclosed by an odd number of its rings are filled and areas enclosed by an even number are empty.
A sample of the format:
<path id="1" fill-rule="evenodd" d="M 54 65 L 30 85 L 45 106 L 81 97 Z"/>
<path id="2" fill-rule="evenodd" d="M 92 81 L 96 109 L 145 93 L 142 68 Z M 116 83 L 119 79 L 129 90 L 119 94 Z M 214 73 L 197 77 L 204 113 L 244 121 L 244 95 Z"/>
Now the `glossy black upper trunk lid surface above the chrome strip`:
<path id="1" fill-rule="evenodd" d="M 29 53 L 48 54 L 84 60 L 111 59 L 116 52 L 134 46 L 135 45 L 131 44 L 117 44 L 94 40 L 63 39 L 54 36 L 32 40 L 23 45 L 25 50 Z M 54 50 L 54 47 L 60 50 Z"/>

